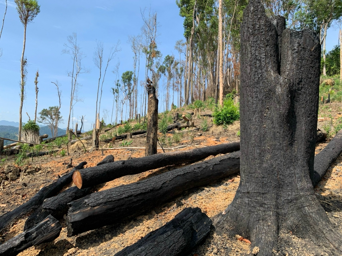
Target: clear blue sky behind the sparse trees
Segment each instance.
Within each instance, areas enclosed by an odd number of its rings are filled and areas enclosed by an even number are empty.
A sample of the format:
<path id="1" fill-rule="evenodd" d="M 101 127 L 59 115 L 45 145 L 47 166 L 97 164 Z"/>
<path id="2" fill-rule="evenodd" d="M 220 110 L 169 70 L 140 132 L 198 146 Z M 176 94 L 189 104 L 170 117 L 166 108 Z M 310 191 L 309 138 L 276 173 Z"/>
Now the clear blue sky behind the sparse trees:
<path id="1" fill-rule="evenodd" d="M 1 21 L 5 8 L 4 2 L 0 0 Z M 111 62 L 109 72 L 106 74 L 101 103 L 102 110 L 107 109 L 111 112 L 113 97 L 110 87 L 114 85 L 115 75 L 110 71 L 114 69 L 118 59 L 120 60 L 120 73 L 133 70 L 133 54 L 127 40 L 129 35 L 140 33 L 143 25 L 140 9 L 151 8 L 157 12 L 159 22 L 157 43 L 164 57 L 172 53 L 177 56 L 174 44 L 177 40 L 183 39 L 183 18 L 179 16 L 175 0 L 40 0 L 39 4 L 41 12 L 35 18 L 34 23 L 27 27 L 25 56 L 28 60 L 28 77 L 23 108 L 24 122 L 28 120 L 25 112 L 28 112 L 31 118 L 34 116 L 34 78 L 36 70 L 39 69 L 38 111 L 58 104 L 57 92 L 51 83 L 58 80 L 62 85 L 61 112 L 65 120 L 60 128 L 66 127 L 70 101 L 70 79 L 66 71 L 70 69 L 72 62 L 68 55 L 62 54 L 62 49 L 63 44 L 67 42 L 67 36 L 73 32 L 77 32 L 79 45 L 87 55 L 83 62 L 84 66 L 91 69 L 90 73 L 80 76 L 79 82 L 82 87 L 79 95 L 84 98 L 84 101 L 77 103 L 74 107 L 74 117 L 86 115 L 86 130 L 91 128 L 95 119 L 98 80 L 98 70 L 93 62 L 95 40 L 104 43 L 105 56 L 111 46 L 115 45 L 118 40 L 121 41 L 122 51 Z M 337 43 L 338 30 L 330 28 L 327 35 L 327 50 L 329 51 Z M 23 25 L 19 21 L 14 1 L 8 1 L 0 40 L 0 48 L 3 49 L 0 59 L 0 120 L 18 122 L 22 44 Z M 144 70 L 143 65 L 141 70 Z M 139 80 L 143 79 L 142 75 L 143 71 Z"/>

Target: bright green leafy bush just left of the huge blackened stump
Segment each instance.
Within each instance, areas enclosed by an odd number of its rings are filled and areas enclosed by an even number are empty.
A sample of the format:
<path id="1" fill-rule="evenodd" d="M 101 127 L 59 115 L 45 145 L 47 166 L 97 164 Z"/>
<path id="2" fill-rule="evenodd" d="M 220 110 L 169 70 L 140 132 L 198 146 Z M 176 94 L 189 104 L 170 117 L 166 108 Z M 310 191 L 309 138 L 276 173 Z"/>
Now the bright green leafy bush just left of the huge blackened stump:
<path id="1" fill-rule="evenodd" d="M 225 99 L 223 105 L 215 109 L 213 117 L 216 125 L 231 124 L 240 118 L 240 113 L 232 100 Z"/>

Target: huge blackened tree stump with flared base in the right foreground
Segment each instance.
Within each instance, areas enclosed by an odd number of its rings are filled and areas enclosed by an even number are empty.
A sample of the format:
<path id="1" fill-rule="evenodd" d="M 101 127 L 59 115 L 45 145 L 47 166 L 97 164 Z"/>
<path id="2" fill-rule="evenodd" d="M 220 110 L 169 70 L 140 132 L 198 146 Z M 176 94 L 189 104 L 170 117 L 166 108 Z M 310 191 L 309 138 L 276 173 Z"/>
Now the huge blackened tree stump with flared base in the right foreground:
<path id="1" fill-rule="evenodd" d="M 272 255 L 279 232 L 290 231 L 341 255 L 341 236 L 333 231 L 310 180 L 318 115 L 319 39 L 307 29 L 280 31 L 285 28 L 284 17 L 272 20 L 260 0 L 250 1 L 244 10 L 241 181 L 233 202 L 214 223 L 217 230 L 247 237 L 260 247 L 258 256 Z"/>

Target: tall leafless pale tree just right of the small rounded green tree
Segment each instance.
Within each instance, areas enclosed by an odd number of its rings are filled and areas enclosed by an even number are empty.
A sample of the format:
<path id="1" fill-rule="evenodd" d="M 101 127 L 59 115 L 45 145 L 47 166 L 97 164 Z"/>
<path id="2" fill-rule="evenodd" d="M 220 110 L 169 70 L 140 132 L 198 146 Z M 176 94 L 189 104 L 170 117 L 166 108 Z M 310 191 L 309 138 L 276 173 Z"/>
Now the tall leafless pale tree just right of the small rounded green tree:
<path id="1" fill-rule="evenodd" d="M 71 71 L 68 71 L 67 74 L 71 77 L 71 90 L 70 90 L 70 108 L 69 108 L 69 117 L 68 117 L 68 125 L 66 133 L 69 131 L 70 127 L 70 116 L 71 110 L 73 110 L 74 105 L 77 102 L 82 101 L 82 98 L 79 98 L 77 95 L 77 91 L 79 86 L 81 86 L 78 82 L 78 76 L 83 73 L 89 73 L 89 70 L 82 66 L 82 60 L 86 55 L 81 51 L 80 46 L 77 44 L 77 33 L 73 33 L 67 37 L 68 43 L 64 44 L 64 49 L 62 53 L 70 55 L 73 60 L 73 67 Z"/>

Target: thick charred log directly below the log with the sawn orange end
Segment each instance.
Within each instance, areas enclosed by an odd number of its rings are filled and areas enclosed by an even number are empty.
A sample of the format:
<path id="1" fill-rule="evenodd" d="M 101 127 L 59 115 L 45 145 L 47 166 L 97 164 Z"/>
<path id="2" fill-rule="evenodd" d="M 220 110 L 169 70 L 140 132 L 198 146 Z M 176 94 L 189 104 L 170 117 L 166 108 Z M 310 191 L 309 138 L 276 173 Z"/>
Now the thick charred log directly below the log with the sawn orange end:
<path id="1" fill-rule="evenodd" d="M 237 173 L 240 152 L 212 158 L 149 179 L 90 194 L 69 203 L 68 236 L 151 211 L 184 191 Z"/>

